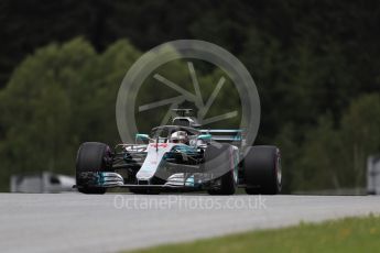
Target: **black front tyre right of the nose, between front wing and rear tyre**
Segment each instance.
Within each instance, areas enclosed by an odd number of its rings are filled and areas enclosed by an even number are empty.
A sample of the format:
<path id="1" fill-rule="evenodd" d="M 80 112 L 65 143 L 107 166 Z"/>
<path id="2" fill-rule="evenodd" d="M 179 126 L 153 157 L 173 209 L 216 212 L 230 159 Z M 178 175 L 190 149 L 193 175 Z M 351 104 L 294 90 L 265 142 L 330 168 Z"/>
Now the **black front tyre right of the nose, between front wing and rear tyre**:
<path id="1" fill-rule="evenodd" d="M 205 151 L 207 173 L 220 174 L 219 187 L 207 190 L 209 195 L 234 195 L 237 187 L 234 167 L 232 146 L 229 144 L 209 145 Z"/>

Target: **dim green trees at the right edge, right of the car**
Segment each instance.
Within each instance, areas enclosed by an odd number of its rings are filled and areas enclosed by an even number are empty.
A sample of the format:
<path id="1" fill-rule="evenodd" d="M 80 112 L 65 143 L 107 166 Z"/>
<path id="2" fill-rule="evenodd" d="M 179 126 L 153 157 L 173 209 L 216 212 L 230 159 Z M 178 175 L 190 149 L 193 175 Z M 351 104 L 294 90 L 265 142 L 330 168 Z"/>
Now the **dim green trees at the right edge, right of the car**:
<path id="1" fill-rule="evenodd" d="M 290 168 L 293 188 L 358 188 L 366 184 L 366 162 L 380 152 L 380 96 L 354 100 L 337 128 L 330 116 L 306 133 L 298 158 Z"/>

